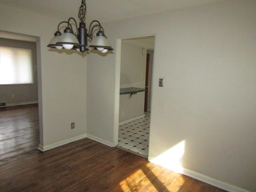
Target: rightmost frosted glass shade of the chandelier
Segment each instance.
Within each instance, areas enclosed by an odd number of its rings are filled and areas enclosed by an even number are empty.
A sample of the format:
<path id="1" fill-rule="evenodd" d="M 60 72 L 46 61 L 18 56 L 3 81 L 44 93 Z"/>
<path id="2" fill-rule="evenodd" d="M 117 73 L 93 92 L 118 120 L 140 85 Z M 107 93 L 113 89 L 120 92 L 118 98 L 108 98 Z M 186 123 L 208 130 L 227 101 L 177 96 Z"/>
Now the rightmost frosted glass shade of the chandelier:
<path id="1" fill-rule="evenodd" d="M 104 32 L 98 31 L 97 36 L 92 40 L 89 47 L 97 48 L 99 51 L 103 51 L 105 48 L 111 48 L 111 45 Z"/>

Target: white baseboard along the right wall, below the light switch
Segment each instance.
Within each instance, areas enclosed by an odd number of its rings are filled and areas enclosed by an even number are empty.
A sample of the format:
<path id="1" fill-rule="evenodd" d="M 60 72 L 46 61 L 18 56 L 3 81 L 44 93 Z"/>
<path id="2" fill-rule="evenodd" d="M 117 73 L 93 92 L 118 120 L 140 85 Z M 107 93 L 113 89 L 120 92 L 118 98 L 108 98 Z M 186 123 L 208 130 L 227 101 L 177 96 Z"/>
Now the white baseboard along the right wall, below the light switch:
<path id="1" fill-rule="evenodd" d="M 152 157 L 148 157 L 148 160 L 154 164 L 158 164 L 156 162 L 154 162 L 154 158 Z M 161 164 L 158 164 L 160 166 L 162 166 Z M 166 167 L 167 168 L 167 167 Z M 170 168 L 168 168 L 170 169 Z M 170 169 L 172 170 L 172 169 Z M 194 178 L 194 179 L 197 179 L 197 180 L 200 180 L 202 182 L 205 182 L 207 184 L 210 184 L 212 186 L 215 186 L 215 187 L 218 187 L 220 189 L 223 189 L 223 190 L 226 190 L 228 192 L 249 192 L 247 190 L 244 190 L 242 188 L 238 188 L 236 186 L 233 186 L 231 184 L 228 184 L 228 183 L 225 183 L 225 182 L 222 182 L 222 181 L 219 181 L 219 180 L 216 180 L 214 178 L 210 178 L 208 176 L 205 176 L 203 174 L 200 174 L 200 173 L 197 173 L 197 172 L 194 172 L 192 170 L 189 170 L 189 169 L 186 169 L 186 168 L 183 168 L 182 171 L 177 171 L 177 170 L 172 170 L 174 172 L 178 172 L 180 174 L 184 174 L 186 176 L 189 176 L 191 178 Z"/>

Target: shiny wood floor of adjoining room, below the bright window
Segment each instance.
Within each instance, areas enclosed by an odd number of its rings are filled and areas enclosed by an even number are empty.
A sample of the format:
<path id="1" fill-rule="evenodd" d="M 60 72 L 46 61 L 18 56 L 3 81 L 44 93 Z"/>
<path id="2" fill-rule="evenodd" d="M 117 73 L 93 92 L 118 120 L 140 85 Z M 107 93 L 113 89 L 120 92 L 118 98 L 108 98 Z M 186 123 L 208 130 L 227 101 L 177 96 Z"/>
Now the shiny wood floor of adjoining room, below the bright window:
<path id="1" fill-rule="evenodd" d="M 37 150 L 37 104 L 0 108 L 0 160 Z"/>

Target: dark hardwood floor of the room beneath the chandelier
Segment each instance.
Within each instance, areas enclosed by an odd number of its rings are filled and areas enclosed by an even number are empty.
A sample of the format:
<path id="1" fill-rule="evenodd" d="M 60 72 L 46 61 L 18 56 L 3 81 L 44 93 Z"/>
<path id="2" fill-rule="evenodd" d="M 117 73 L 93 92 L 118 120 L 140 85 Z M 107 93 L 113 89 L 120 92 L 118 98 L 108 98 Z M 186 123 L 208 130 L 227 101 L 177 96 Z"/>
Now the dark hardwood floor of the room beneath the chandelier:
<path id="1" fill-rule="evenodd" d="M 15 127 L 19 127 L 18 122 L 30 122 L 24 116 L 17 119 Z M 12 151 L 8 148 L 6 144 L 1 151 Z M 31 150 L 0 160 L 0 192 L 17 191 L 224 192 L 88 138 L 46 152 Z"/>

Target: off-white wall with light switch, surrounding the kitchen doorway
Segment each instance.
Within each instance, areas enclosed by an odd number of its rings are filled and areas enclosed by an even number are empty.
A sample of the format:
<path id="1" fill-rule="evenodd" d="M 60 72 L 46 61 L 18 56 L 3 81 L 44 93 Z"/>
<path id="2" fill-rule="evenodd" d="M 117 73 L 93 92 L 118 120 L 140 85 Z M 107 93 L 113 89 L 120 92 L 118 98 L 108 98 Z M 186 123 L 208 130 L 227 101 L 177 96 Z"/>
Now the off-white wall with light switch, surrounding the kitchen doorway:
<path id="1" fill-rule="evenodd" d="M 256 191 L 256 1 L 103 26 L 113 46 L 118 38 L 156 34 L 150 160 L 184 141 L 183 168 L 230 191 Z M 118 65 L 115 54 L 88 57 L 88 132 L 113 143 Z"/>

